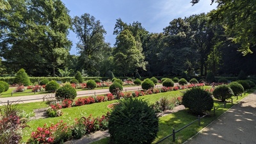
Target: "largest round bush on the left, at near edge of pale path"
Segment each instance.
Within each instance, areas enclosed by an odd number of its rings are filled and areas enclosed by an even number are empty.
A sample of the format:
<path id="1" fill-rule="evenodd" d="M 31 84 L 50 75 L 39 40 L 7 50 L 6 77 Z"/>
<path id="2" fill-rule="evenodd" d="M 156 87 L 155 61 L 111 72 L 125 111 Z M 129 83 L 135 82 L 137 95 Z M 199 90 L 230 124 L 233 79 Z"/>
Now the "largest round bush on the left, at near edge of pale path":
<path id="1" fill-rule="evenodd" d="M 64 99 L 75 99 L 77 96 L 76 90 L 67 84 L 65 86 L 60 87 L 55 94 L 57 100 L 64 100 Z"/>

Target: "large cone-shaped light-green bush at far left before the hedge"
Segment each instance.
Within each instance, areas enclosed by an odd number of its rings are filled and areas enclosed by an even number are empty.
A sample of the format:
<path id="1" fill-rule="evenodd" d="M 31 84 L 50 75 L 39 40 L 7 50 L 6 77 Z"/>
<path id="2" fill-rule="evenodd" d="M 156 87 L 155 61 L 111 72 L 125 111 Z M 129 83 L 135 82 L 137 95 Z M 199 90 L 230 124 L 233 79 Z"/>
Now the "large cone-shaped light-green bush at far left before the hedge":
<path id="1" fill-rule="evenodd" d="M 30 80 L 28 77 L 28 74 L 26 73 L 26 71 L 21 68 L 15 76 L 15 83 L 19 84 L 19 85 L 24 85 L 24 86 L 28 86 L 30 84 Z"/>

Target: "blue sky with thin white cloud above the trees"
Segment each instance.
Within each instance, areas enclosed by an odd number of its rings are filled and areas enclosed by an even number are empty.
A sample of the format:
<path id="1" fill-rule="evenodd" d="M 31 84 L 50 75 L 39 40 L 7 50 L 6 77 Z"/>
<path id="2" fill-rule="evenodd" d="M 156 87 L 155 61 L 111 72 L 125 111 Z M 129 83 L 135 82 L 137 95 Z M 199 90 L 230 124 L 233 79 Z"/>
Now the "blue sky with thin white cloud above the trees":
<path id="1" fill-rule="evenodd" d="M 116 19 L 121 18 L 127 24 L 141 22 L 141 25 L 150 33 L 161 33 L 169 22 L 179 17 L 189 17 L 193 14 L 207 13 L 216 9 L 216 3 L 211 5 L 210 0 L 200 1 L 191 6 L 191 0 L 62 0 L 70 10 L 70 16 L 81 16 L 90 13 L 96 20 L 100 20 L 104 29 L 106 42 L 115 44 Z M 69 37 L 73 46 L 70 54 L 76 54 L 76 34 L 70 31 Z"/>

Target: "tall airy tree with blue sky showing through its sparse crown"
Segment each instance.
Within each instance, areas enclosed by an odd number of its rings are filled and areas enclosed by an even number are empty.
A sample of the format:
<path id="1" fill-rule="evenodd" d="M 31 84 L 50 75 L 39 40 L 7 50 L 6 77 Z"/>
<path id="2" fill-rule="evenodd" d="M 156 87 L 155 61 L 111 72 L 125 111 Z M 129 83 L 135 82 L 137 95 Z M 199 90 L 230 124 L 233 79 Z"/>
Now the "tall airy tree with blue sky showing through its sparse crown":
<path id="1" fill-rule="evenodd" d="M 104 42 L 106 31 L 100 24 L 100 20 L 88 13 L 73 19 L 74 32 L 79 38 L 77 49 L 79 58 L 77 70 L 85 69 L 90 75 L 97 76 L 99 73 L 100 61 L 104 60 L 104 52 L 109 51 L 109 44 Z M 106 50 L 106 51 L 104 51 Z"/>

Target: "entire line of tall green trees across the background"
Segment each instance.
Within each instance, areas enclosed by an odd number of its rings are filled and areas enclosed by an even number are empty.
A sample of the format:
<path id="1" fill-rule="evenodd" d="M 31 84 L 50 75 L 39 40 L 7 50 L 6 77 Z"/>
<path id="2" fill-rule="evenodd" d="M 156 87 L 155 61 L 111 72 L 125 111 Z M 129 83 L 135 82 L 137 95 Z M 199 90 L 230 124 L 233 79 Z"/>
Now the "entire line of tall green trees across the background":
<path id="1" fill-rule="evenodd" d="M 111 47 L 100 20 L 89 13 L 72 18 L 60 0 L 1 1 L 0 76 L 20 68 L 31 77 L 72 77 L 76 71 L 92 77 L 255 75 L 255 3 L 216 3 L 210 13 L 173 19 L 162 33 L 117 19 Z M 79 40 L 78 56 L 69 53 L 70 30 Z"/>

